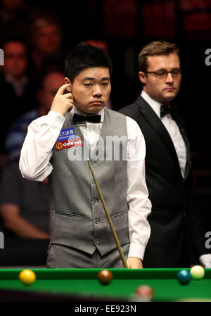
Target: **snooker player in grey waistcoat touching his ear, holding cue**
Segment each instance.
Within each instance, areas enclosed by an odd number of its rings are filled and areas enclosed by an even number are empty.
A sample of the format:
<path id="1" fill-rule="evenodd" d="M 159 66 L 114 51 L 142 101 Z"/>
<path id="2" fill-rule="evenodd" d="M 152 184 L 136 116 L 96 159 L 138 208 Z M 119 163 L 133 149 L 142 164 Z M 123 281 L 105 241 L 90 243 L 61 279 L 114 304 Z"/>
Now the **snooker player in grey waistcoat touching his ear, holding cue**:
<path id="1" fill-rule="evenodd" d="M 47 267 L 123 267 L 96 175 L 129 268 L 141 268 L 150 236 L 145 141 L 131 118 L 104 108 L 112 64 L 106 53 L 78 44 L 65 60 L 64 85 L 51 110 L 28 127 L 20 155 L 23 177 L 51 191 Z"/>

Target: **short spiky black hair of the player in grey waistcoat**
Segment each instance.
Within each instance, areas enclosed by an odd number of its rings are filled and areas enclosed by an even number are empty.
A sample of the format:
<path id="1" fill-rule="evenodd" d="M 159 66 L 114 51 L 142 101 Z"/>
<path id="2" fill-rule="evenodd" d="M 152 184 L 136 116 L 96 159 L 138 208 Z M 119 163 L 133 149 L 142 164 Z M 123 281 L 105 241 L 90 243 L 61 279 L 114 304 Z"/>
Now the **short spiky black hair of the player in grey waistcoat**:
<path id="1" fill-rule="evenodd" d="M 73 82 L 82 70 L 95 67 L 108 68 L 112 76 L 112 62 L 105 51 L 100 47 L 82 42 L 77 44 L 65 58 L 64 75 Z"/>

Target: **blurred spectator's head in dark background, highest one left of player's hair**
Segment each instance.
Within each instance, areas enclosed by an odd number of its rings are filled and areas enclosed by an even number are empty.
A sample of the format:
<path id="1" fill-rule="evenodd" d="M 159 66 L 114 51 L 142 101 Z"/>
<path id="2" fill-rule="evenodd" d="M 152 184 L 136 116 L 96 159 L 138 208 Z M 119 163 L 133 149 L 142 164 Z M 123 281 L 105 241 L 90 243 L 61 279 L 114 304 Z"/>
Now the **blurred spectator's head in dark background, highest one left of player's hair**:
<path id="1" fill-rule="evenodd" d="M 63 71 L 60 25 L 53 18 L 39 18 L 32 23 L 32 62 L 39 73 Z"/>

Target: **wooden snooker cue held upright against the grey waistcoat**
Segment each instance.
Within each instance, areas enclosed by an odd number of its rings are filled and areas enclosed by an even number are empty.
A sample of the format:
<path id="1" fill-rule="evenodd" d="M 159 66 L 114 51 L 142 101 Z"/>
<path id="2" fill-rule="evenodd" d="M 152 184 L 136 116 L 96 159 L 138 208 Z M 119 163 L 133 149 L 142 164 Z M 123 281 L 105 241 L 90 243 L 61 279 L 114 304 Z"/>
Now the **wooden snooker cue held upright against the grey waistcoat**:
<path id="1" fill-rule="evenodd" d="M 96 188 L 97 188 L 98 194 L 99 194 L 99 196 L 100 196 L 100 198 L 101 198 L 101 202 L 102 202 L 102 204 L 103 204 L 103 208 L 104 208 L 104 210 L 105 210 L 105 212 L 106 212 L 106 216 L 107 216 L 107 219 L 108 219 L 108 223 L 109 223 L 109 225 L 110 225 L 110 229 L 111 229 L 111 231 L 113 232 L 113 236 L 114 236 L 114 239 L 115 239 L 115 243 L 116 243 L 117 249 L 118 249 L 118 251 L 119 251 L 119 253 L 120 253 L 120 258 L 121 258 L 121 260 L 122 260 L 123 266 L 124 266 L 124 268 L 127 268 L 127 269 L 128 269 L 128 265 L 127 265 L 127 262 L 126 262 L 126 260 L 125 260 L 125 258 L 124 258 L 124 253 L 123 253 L 123 251 L 122 251 L 122 248 L 121 248 L 121 245 L 120 245 L 120 241 L 119 241 L 119 239 L 118 239 L 117 233 L 116 233 L 115 228 L 114 228 L 114 226 L 113 226 L 113 222 L 112 222 L 112 220 L 111 220 L 111 218 L 110 218 L 110 215 L 109 215 L 109 213 L 108 213 L 108 209 L 107 209 L 107 207 L 106 207 L 106 202 L 105 202 L 105 200 L 104 200 L 104 198 L 103 198 L 103 194 L 101 193 L 101 189 L 100 189 L 99 184 L 98 184 L 98 181 L 97 181 L 97 179 L 96 179 L 96 177 L 95 177 L 95 175 L 94 175 L 94 170 L 93 170 L 93 168 L 91 167 L 91 163 L 90 163 L 89 160 L 88 160 L 88 164 L 89 164 L 89 168 L 90 168 L 90 170 L 91 170 L 91 174 L 92 174 L 92 176 L 93 176 L 93 178 L 94 178 L 94 182 L 96 183 Z"/>

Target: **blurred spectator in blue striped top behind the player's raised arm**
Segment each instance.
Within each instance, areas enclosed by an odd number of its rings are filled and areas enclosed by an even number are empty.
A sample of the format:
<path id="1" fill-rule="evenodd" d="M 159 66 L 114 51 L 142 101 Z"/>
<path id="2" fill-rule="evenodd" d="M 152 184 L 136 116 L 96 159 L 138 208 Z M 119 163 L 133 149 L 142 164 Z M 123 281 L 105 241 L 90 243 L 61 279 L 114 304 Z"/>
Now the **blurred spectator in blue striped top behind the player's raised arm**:
<path id="1" fill-rule="evenodd" d="M 15 120 L 6 137 L 6 151 L 10 162 L 19 160 L 20 149 L 23 145 L 28 125 L 30 125 L 32 120 L 49 113 L 53 98 L 58 88 L 63 84 L 64 80 L 61 72 L 49 72 L 44 76 L 37 93 L 37 107 Z"/>

